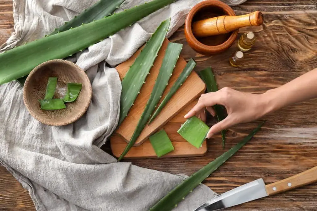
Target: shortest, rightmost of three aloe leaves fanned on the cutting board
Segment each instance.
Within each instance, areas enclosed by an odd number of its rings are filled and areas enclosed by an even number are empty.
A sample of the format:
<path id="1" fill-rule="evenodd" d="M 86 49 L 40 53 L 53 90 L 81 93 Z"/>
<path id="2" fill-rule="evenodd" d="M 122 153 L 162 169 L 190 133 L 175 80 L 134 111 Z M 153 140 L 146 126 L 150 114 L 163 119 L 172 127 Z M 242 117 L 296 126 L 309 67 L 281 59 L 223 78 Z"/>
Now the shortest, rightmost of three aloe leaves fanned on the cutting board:
<path id="1" fill-rule="evenodd" d="M 159 115 L 159 113 L 162 111 L 162 109 L 167 104 L 167 102 L 176 93 L 179 87 L 182 86 L 182 84 L 187 79 L 189 74 L 191 74 L 191 71 L 194 69 L 195 66 L 196 66 L 196 62 L 193 59 L 190 59 L 187 65 L 185 66 L 183 72 L 179 75 L 178 79 L 175 81 L 170 91 L 166 94 L 165 98 L 162 100 L 161 104 L 159 105 L 159 107 L 156 109 L 156 111 L 150 118 L 149 124 L 157 117 L 157 115 Z"/>

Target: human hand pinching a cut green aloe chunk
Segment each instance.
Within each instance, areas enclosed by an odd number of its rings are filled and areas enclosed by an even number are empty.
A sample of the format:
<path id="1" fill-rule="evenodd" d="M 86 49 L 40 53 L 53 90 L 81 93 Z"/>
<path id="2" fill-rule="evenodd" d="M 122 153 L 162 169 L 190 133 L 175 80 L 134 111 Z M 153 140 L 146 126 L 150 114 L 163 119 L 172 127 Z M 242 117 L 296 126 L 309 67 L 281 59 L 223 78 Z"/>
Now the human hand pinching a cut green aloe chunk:
<path id="1" fill-rule="evenodd" d="M 228 87 L 224 87 L 217 92 L 202 94 L 198 103 L 184 116 L 190 118 L 198 115 L 205 121 L 204 112 L 207 110 L 212 116 L 216 112 L 213 105 L 223 105 L 228 116 L 217 124 L 213 125 L 207 137 L 212 137 L 215 133 L 220 132 L 232 125 L 245 123 L 256 120 L 268 112 L 267 101 L 263 94 L 252 94 L 240 92 Z"/>

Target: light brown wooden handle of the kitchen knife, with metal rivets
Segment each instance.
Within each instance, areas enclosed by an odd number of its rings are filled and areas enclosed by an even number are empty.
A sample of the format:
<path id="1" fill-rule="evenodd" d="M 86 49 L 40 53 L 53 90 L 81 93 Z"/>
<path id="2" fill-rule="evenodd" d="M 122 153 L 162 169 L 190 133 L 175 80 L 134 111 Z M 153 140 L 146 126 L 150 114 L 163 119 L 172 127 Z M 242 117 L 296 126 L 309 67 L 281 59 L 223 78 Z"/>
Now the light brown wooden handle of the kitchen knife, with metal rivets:
<path id="1" fill-rule="evenodd" d="M 274 182 L 265 186 L 268 195 L 274 195 L 294 188 L 298 188 L 310 183 L 317 182 L 317 166 L 301 172 L 287 179 Z"/>

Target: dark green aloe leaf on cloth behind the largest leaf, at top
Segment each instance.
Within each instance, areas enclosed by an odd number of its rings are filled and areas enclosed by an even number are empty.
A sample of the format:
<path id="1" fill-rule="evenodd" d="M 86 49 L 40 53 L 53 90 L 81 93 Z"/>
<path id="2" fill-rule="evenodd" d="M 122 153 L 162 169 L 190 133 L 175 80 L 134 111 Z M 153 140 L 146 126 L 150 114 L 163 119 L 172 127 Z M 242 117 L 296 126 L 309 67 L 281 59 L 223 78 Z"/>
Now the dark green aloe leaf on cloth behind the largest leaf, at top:
<path id="1" fill-rule="evenodd" d="M 124 2 L 125 0 L 101 0 L 97 3 L 95 3 L 93 6 L 88 8 L 87 10 L 80 13 L 78 16 L 75 16 L 72 20 L 69 22 L 65 22 L 64 25 L 59 27 L 58 29 L 55 29 L 51 34 L 54 35 L 61 31 L 66 31 L 71 28 L 75 28 L 80 26 L 81 24 L 90 23 L 94 20 L 100 20 L 101 18 L 104 18 L 106 16 L 111 15 L 114 10 L 119 8 L 119 6 Z"/>

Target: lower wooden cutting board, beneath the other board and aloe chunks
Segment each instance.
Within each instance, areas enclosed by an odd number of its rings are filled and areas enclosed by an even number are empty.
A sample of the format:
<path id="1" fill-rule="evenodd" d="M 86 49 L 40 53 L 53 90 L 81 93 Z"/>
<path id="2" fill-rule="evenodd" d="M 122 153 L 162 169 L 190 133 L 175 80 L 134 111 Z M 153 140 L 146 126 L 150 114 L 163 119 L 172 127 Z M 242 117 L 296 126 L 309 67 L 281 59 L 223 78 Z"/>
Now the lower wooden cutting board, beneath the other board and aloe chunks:
<path id="1" fill-rule="evenodd" d="M 181 137 L 177 131 L 186 119 L 184 115 L 196 105 L 197 100 L 193 101 L 184 110 L 178 113 L 162 128 L 166 131 L 168 137 L 174 146 L 174 150 L 162 157 L 193 157 L 193 156 L 204 156 L 207 152 L 206 140 L 203 142 L 202 147 L 197 149 L 183 137 Z M 159 128 L 160 130 L 161 128 Z M 115 157 L 120 157 L 121 153 L 125 149 L 127 143 L 124 138 L 120 135 L 115 134 L 110 138 L 111 150 Z M 130 151 L 126 154 L 125 158 L 153 158 L 157 157 L 150 141 L 147 139 L 143 144 L 139 146 L 133 146 Z"/>

